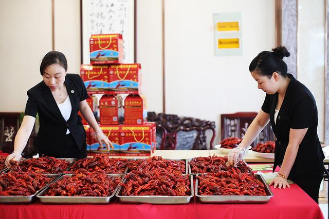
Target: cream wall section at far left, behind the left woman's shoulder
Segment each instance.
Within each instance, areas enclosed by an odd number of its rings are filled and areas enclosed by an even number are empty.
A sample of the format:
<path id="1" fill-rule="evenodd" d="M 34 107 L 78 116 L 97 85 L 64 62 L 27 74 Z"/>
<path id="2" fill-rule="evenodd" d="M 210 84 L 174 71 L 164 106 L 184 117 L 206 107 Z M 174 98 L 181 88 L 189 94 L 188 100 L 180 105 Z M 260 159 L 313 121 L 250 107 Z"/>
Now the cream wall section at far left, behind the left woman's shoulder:
<path id="1" fill-rule="evenodd" d="M 51 0 L 2 1 L 0 30 L 0 111 L 22 112 L 51 50 Z"/>

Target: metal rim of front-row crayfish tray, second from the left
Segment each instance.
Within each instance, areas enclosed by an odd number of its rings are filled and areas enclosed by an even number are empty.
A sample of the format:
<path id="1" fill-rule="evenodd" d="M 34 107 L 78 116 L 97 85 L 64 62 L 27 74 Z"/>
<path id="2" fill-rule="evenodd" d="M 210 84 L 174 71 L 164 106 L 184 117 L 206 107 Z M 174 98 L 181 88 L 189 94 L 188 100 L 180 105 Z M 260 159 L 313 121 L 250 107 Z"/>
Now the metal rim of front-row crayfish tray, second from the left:
<path id="1" fill-rule="evenodd" d="M 56 181 L 61 180 L 66 175 L 72 175 L 72 174 L 64 174 L 61 177 L 57 178 Z M 111 176 L 117 176 L 122 177 L 124 174 L 107 174 Z M 56 181 L 53 181 L 52 183 L 55 183 Z M 44 188 L 36 197 L 40 199 L 40 202 L 44 204 L 108 204 L 111 198 L 114 196 L 114 194 L 117 192 L 119 185 L 116 187 L 116 189 L 113 191 L 111 196 L 105 196 L 105 197 L 95 197 L 95 196 L 45 196 L 49 189 L 48 185 L 46 188 Z"/>

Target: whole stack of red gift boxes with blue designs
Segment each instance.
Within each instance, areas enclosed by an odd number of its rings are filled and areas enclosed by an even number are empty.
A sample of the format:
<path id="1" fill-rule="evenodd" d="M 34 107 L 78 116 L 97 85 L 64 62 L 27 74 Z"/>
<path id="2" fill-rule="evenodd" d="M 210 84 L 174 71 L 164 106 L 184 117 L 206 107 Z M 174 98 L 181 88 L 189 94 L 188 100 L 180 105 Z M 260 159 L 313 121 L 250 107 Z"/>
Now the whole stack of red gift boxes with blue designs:
<path id="1" fill-rule="evenodd" d="M 147 122 L 147 101 L 141 93 L 141 66 L 123 60 L 121 34 L 90 37 L 90 64 L 81 65 L 81 77 L 92 110 L 99 108 L 100 127 L 114 149 L 109 152 L 91 137 L 85 120 L 88 155 L 150 156 L 156 148 L 156 126 Z M 93 94 L 103 94 L 95 106 Z"/>

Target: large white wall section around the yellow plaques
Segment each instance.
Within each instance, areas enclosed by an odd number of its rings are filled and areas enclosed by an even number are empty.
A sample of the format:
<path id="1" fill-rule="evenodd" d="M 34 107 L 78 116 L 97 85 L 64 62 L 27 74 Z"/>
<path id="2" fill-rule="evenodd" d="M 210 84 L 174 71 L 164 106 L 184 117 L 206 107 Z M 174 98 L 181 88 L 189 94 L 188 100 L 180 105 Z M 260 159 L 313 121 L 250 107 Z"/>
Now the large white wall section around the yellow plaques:
<path id="1" fill-rule="evenodd" d="M 213 14 L 241 12 L 239 56 L 214 56 Z M 166 112 L 215 121 L 256 111 L 265 93 L 249 73 L 251 60 L 275 46 L 274 1 L 166 1 Z"/>

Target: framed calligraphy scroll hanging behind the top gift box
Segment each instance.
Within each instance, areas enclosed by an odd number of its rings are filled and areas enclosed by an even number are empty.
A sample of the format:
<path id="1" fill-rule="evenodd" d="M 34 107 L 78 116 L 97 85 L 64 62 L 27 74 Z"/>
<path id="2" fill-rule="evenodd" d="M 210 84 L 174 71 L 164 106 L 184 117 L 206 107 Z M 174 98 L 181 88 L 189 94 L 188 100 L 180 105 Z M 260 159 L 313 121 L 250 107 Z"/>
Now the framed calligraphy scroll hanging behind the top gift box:
<path id="1" fill-rule="evenodd" d="M 135 63 L 136 0 L 80 0 L 81 61 L 89 64 L 89 38 L 92 34 L 121 33 L 123 62 Z"/>

